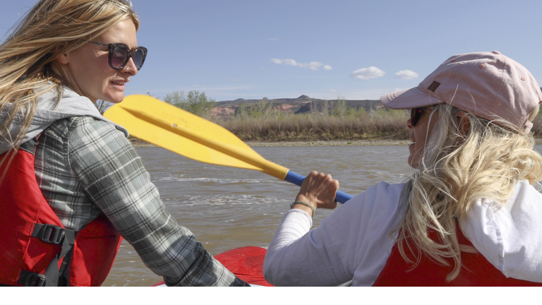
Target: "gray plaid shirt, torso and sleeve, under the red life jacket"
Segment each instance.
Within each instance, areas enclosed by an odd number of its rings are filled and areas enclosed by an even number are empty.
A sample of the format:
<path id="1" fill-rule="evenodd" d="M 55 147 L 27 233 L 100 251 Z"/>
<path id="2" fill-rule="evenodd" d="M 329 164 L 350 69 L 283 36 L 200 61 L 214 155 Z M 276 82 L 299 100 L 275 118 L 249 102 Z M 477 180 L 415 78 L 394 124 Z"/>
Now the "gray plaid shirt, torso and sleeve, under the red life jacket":
<path id="1" fill-rule="evenodd" d="M 100 213 L 169 286 L 246 286 L 171 217 L 124 133 L 91 116 L 59 119 L 40 136 L 35 171 L 62 224 Z"/>

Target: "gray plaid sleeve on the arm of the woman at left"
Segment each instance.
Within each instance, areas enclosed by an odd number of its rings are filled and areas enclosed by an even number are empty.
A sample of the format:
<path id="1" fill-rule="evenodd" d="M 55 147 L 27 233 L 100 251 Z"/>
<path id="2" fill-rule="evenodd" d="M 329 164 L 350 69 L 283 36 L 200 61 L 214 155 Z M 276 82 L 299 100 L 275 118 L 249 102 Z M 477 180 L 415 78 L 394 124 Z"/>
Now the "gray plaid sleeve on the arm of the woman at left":
<path id="1" fill-rule="evenodd" d="M 71 169 L 92 202 L 166 285 L 247 285 L 171 217 L 121 131 L 88 116 L 74 122 L 68 141 Z"/>

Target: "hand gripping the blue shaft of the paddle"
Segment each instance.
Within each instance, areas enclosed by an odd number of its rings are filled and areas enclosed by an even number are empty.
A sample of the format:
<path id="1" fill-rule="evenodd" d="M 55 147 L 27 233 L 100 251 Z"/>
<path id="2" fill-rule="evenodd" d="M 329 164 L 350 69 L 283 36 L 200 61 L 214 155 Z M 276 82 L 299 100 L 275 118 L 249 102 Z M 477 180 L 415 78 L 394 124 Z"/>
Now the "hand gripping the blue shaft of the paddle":
<path id="1" fill-rule="evenodd" d="M 296 201 L 303 201 L 314 208 L 335 208 L 335 193 L 339 189 L 339 181 L 330 174 L 311 172 L 301 183 Z"/>

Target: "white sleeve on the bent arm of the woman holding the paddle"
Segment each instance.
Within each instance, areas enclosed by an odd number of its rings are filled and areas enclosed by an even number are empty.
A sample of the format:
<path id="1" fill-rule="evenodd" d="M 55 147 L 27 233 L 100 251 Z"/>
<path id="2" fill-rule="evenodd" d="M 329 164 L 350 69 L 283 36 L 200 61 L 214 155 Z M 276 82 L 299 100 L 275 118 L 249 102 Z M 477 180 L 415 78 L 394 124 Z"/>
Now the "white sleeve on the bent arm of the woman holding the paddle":
<path id="1" fill-rule="evenodd" d="M 311 217 L 290 210 L 267 249 L 265 279 L 276 286 L 373 285 L 390 256 L 387 234 L 399 222 L 403 186 L 371 186 L 310 232 Z"/>

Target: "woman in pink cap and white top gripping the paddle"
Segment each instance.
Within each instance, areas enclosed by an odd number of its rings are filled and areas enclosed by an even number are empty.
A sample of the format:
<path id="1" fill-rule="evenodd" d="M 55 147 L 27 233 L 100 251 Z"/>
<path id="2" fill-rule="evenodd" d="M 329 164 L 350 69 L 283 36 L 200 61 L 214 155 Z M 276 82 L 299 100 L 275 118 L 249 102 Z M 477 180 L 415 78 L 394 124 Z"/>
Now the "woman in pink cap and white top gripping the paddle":
<path id="1" fill-rule="evenodd" d="M 273 285 L 541 285 L 542 157 L 531 121 L 542 92 L 499 52 L 454 55 L 416 88 L 380 97 L 411 109 L 404 184 L 380 182 L 309 232 L 339 186 L 312 172 L 267 251 Z"/>

